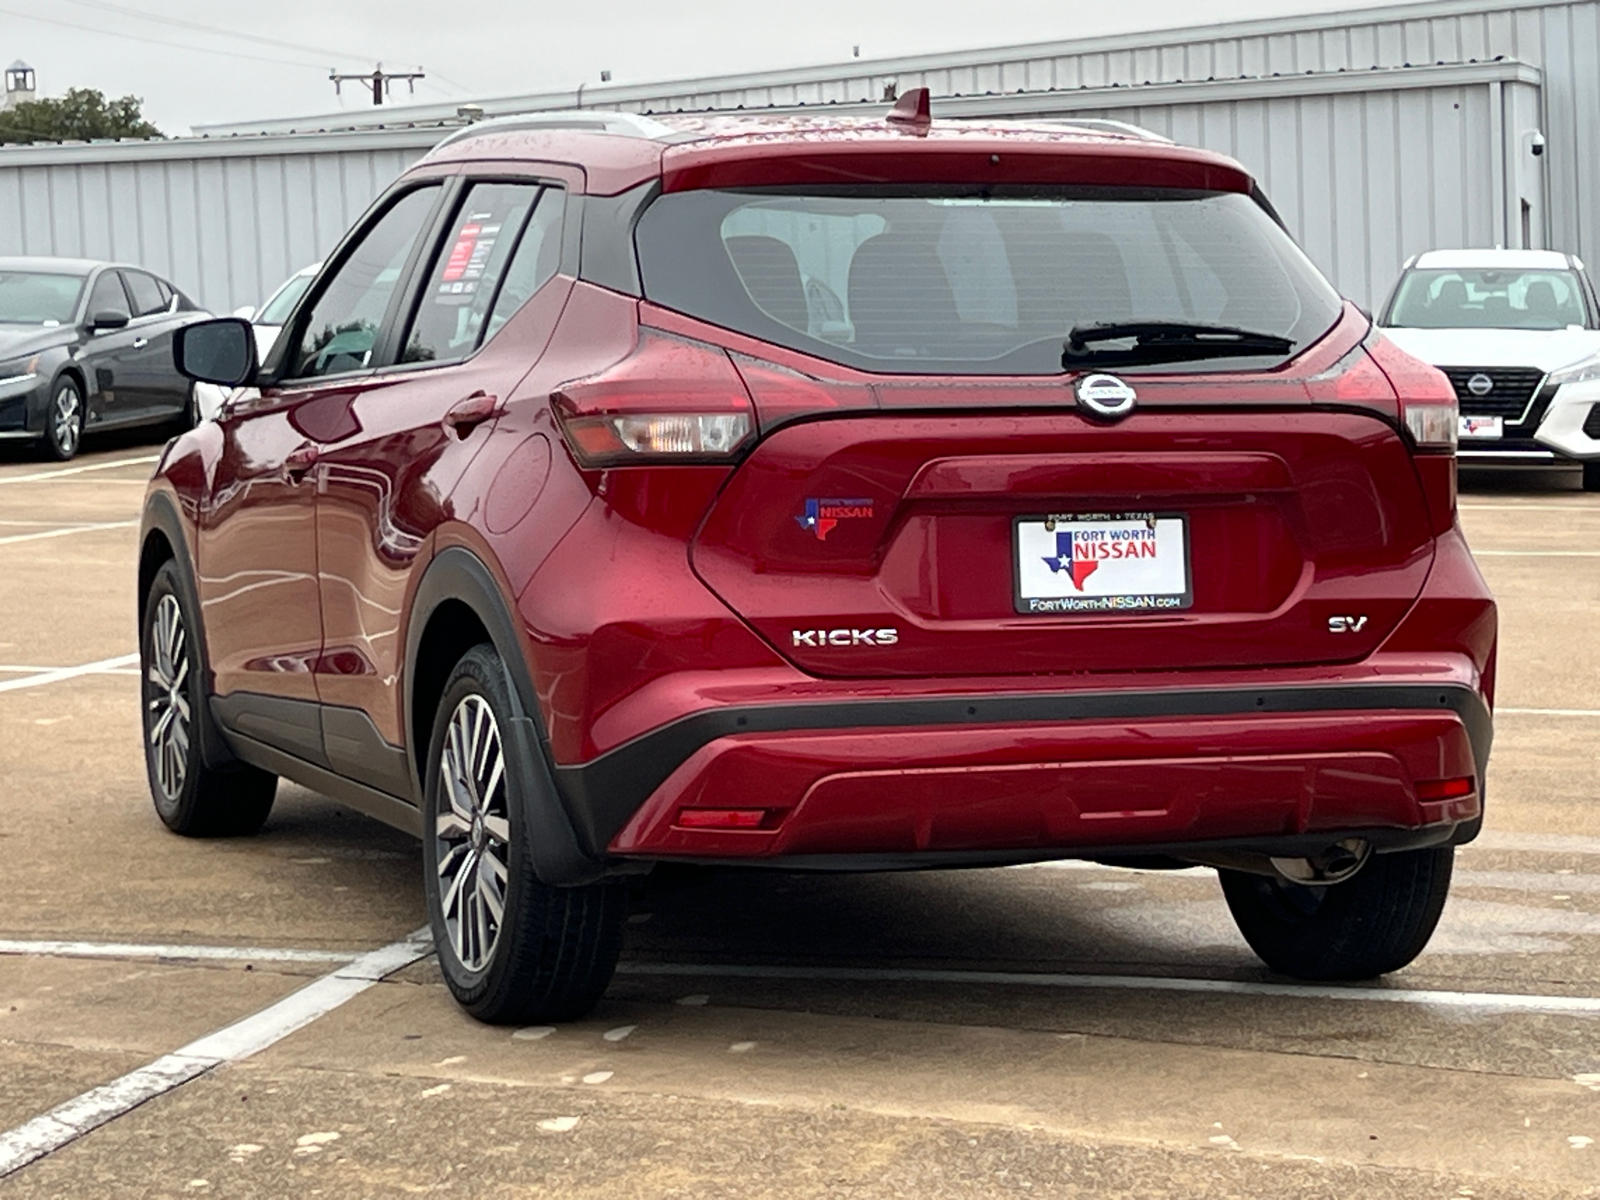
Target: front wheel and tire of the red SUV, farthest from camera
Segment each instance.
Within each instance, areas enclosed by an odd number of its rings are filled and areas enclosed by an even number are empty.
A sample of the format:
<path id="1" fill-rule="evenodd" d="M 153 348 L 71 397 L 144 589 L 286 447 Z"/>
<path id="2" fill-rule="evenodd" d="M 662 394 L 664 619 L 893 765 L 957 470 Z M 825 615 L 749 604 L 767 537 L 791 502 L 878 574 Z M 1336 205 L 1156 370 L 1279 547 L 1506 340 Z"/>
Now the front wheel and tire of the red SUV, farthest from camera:
<path id="1" fill-rule="evenodd" d="M 278 778 L 254 766 L 206 766 L 202 742 L 213 730 L 194 630 L 194 605 L 178 566 L 166 562 L 146 595 L 139 630 L 144 770 L 155 813 L 186 837 L 254 834 L 272 811 Z"/>

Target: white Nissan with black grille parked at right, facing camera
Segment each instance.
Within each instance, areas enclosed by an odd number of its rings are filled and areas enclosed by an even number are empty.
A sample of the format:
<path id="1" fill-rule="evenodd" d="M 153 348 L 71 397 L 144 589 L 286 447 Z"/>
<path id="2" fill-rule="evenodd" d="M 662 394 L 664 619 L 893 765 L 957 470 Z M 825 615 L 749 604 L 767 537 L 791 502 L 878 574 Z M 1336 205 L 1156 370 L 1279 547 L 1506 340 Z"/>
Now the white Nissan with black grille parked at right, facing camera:
<path id="1" fill-rule="evenodd" d="M 1600 491 L 1600 302 L 1554 250 L 1432 250 L 1406 262 L 1378 323 L 1434 363 L 1474 464 L 1582 462 Z"/>

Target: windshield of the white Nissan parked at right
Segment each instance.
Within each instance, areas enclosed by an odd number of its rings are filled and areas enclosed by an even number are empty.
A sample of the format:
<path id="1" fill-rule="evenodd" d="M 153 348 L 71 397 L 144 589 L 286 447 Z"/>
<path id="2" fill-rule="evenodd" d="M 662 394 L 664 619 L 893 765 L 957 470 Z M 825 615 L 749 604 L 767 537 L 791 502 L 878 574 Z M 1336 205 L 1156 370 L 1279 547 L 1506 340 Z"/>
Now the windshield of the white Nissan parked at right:
<path id="1" fill-rule="evenodd" d="M 1573 270 L 1408 270 L 1390 326 L 1414 330 L 1565 330 L 1590 325 Z"/>

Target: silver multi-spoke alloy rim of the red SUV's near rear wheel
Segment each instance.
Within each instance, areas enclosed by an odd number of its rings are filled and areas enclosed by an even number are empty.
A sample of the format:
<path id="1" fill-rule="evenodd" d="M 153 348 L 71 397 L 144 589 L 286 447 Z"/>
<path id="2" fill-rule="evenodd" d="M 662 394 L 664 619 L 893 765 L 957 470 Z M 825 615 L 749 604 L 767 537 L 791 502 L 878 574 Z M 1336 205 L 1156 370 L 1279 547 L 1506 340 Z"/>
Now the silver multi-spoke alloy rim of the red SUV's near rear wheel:
<path id="1" fill-rule="evenodd" d="M 456 706 L 438 762 L 440 805 L 434 829 L 438 896 L 456 958 L 482 971 L 506 920 L 510 814 L 506 755 L 488 701 Z"/>

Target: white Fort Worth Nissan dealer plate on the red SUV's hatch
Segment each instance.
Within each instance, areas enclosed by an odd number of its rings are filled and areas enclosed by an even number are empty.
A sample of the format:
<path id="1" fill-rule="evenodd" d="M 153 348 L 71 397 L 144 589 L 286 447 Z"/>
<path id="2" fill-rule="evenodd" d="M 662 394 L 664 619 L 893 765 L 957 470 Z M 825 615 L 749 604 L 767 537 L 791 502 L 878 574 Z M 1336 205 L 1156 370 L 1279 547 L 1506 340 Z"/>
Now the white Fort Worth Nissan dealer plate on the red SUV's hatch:
<path id="1" fill-rule="evenodd" d="M 1189 522 L 1093 512 L 1011 523 L 1018 613 L 1158 613 L 1189 608 Z"/>

